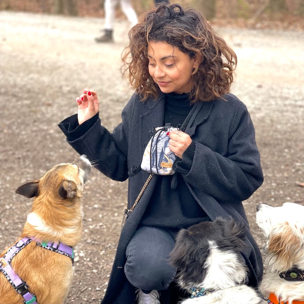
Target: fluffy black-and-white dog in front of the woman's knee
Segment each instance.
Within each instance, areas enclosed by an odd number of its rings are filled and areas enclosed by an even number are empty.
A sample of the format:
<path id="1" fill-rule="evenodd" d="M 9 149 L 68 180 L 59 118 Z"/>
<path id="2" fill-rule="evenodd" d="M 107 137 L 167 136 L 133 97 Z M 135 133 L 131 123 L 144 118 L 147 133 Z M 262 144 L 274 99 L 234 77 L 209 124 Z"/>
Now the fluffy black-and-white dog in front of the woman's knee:
<path id="1" fill-rule="evenodd" d="M 178 285 L 189 291 L 183 304 L 257 304 L 262 302 L 253 288 L 245 285 L 248 268 L 241 255 L 244 225 L 233 219 L 217 218 L 182 229 L 171 252 L 178 268 Z M 190 299 L 190 288 L 213 289 L 208 295 Z"/>

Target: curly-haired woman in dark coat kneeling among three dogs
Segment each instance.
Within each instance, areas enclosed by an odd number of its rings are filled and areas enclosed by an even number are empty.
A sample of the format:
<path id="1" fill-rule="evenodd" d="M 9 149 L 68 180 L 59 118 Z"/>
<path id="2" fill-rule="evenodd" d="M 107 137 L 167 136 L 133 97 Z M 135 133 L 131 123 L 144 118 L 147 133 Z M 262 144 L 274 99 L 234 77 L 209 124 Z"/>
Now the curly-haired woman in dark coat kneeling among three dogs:
<path id="1" fill-rule="evenodd" d="M 176 302 L 177 269 L 168 264 L 174 237 L 217 216 L 246 223 L 248 285 L 257 287 L 262 258 L 242 201 L 262 184 L 263 174 L 250 115 L 229 93 L 235 53 L 199 12 L 178 4 L 150 10 L 129 36 L 123 60 L 135 93 L 122 122 L 109 133 L 98 117 L 97 94 L 85 91 L 77 98 L 78 115 L 59 125 L 78 153 L 98 160 L 98 170 L 117 181 L 128 178 L 128 209 L 149 176 L 140 161 L 150 130 L 179 126 L 195 103 L 202 108 L 187 133 L 170 133 L 176 174 L 154 174 L 129 214 L 102 304 Z"/>

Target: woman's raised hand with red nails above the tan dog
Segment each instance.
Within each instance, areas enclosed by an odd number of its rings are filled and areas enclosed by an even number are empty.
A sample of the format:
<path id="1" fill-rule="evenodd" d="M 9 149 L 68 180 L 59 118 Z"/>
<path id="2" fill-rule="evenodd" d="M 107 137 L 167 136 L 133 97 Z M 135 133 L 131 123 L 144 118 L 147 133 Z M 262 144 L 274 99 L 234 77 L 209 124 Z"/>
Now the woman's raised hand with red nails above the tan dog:
<path id="1" fill-rule="evenodd" d="M 80 97 L 76 98 L 78 104 L 78 123 L 81 125 L 92 118 L 99 111 L 99 102 L 96 92 L 84 90 Z"/>

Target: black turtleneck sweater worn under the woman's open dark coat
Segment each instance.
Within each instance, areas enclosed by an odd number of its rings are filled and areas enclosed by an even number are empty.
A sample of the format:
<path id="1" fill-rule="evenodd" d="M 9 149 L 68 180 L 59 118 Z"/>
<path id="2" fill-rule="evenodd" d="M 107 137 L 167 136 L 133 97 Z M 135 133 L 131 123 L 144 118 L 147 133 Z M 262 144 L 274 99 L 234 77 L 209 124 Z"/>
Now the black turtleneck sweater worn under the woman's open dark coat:
<path id="1" fill-rule="evenodd" d="M 189 95 L 169 93 L 165 98 L 164 125 L 181 125 L 192 109 Z M 176 160 L 183 169 L 183 174 L 191 169 L 194 151 L 195 143 L 192 142 L 184 152 L 183 159 Z M 141 225 L 178 230 L 206 220 L 206 213 L 190 193 L 181 173 L 175 174 L 176 189 L 171 189 L 173 175 L 158 176 L 153 195 L 140 221 Z"/>

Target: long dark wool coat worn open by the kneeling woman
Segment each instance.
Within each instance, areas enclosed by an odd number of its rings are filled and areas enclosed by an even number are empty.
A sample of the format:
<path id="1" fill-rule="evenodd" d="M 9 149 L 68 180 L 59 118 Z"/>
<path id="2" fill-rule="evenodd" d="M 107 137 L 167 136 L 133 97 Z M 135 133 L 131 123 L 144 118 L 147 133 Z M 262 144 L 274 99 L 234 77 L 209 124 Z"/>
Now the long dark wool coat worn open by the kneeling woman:
<path id="1" fill-rule="evenodd" d="M 180 173 L 202 209 L 213 221 L 217 216 L 233 217 L 246 223 L 247 250 L 244 258 L 250 269 L 248 285 L 257 287 L 262 279 L 260 250 L 252 237 L 242 201 L 248 199 L 263 182 L 260 154 L 255 131 L 246 106 L 236 96 L 204 102 L 188 134 L 195 141 L 191 170 Z M 68 143 L 91 161 L 109 178 L 128 183 L 128 208 L 147 180 L 149 173 L 136 170 L 140 166 L 149 131 L 164 123 L 164 94 L 155 101 L 133 94 L 122 112 L 122 122 L 110 133 L 101 126 L 98 115 L 80 126 L 77 116 L 59 124 Z M 134 304 L 135 288 L 124 274 L 126 247 L 150 201 L 157 178 L 148 187 L 130 213 L 119 238 L 116 257 L 102 304 Z M 186 203 L 186 202 L 185 202 Z M 172 297 L 171 297 L 172 298 Z M 170 291 L 161 293 L 163 304 L 172 303 Z"/>

